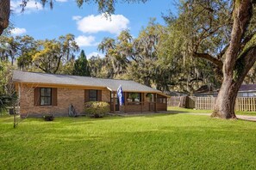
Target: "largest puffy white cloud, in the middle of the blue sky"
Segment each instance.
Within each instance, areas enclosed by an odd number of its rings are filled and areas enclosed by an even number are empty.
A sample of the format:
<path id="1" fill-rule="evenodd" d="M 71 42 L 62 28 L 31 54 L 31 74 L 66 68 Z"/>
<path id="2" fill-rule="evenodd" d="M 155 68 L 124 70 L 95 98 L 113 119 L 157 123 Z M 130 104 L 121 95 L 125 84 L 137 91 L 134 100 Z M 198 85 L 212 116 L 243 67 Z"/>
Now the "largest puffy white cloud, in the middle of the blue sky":
<path id="1" fill-rule="evenodd" d="M 120 33 L 128 28 L 128 19 L 123 15 L 111 15 L 111 18 L 106 18 L 102 15 L 89 15 L 80 18 L 77 21 L 78 30 L 83 33 Z"/>

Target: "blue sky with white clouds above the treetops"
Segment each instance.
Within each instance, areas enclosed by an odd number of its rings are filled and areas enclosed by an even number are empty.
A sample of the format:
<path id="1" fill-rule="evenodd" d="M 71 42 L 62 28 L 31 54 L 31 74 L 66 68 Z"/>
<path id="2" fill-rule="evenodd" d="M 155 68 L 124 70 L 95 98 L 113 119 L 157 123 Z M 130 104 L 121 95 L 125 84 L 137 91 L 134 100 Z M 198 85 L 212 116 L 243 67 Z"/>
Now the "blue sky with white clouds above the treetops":
<path id="1" fill-rule="evenodd" d="M 22 0 L 10 1 L 12 14 L 10 22 L 14 25 L 13 36 L 28 34 L 34 39 L 58 39 L 60 35 L 72 33 L 87 58 L 99 54 L 97 45 L 104 37 L 116 39 L 118 33 L 128 29 L 137 37 L 142 27 L 147 27 L 150 18 L 157 23 L 165 24 L 163 14 L 171 10 L 177 13 L 176 1 L 149 0 L 147 3 L 116 3 L 115 14 L 111 20 L 97 11 L 97 4 L 84 3 L 78 8 L 75 0 L 55 0 L 53 9 L 47 5 L 30 0 L 25 12 L 21 13 Z M 160 2 L 160 3 L 159 3 Z"/>

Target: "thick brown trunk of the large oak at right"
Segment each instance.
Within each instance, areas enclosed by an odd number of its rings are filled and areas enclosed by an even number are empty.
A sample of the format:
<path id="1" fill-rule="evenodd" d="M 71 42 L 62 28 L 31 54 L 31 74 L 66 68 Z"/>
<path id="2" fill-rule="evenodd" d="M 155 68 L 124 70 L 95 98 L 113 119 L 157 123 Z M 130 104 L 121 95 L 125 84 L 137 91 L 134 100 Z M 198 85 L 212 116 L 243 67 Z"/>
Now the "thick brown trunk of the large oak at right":
<path id="1" fill-rule="evenodd" d="M 235 99 L 248 70 L 255 62 L 255 49 L 243 52 L 241 42 L 248 22 L 252 17 L 253 3 L 251 0 L 234 0 L 234 23 L 231 39 L 223 64 L 223 82 L 215 102 L 215 109 L 211 117 L 236 118 L 234 113 Z"/>

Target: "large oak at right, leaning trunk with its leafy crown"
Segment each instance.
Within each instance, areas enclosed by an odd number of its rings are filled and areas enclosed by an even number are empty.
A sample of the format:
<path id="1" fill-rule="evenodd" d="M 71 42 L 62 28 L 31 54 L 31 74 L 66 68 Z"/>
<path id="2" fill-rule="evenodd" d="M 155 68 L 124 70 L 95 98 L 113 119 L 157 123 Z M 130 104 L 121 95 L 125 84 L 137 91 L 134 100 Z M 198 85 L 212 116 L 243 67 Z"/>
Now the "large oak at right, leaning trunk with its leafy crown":
<path id="1" fill-rule="evenodd" d="M 222 76 L 212 117 L 236 118 L 238 90 L 256 61 L 255 5 L 255 0 L 182 1 L 172 23 L 183 36 L 183 55 L 215 64 Z"/>

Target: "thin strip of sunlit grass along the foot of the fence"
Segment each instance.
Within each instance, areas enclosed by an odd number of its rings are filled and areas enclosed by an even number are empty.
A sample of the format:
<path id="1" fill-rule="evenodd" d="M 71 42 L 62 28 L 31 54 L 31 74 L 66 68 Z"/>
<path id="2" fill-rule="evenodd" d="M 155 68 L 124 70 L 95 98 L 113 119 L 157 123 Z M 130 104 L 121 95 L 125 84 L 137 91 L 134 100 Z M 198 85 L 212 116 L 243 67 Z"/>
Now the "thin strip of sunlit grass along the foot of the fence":
<path id="1" fill-rule="evenodd" d="M 194 110 L 188 108 L 181 108 L 178 106 L 168 106 L 168 111 L 171 112 L 180 112 L 180 113 L 211 113 L 212 110 Z M 237 115 L 247 115 L 247 116 L 256 116 L 256 112 L 242 112 L 236 111 L 235 114 Z"/>

